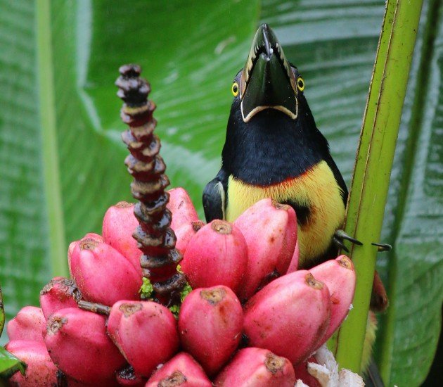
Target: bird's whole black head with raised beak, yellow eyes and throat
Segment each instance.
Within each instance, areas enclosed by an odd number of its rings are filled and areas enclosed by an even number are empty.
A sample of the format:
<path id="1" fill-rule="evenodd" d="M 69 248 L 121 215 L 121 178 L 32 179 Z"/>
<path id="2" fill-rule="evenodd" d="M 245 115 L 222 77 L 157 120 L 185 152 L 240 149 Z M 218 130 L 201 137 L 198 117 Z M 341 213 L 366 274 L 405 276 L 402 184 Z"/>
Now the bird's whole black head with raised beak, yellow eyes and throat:
<path id="1" fill-rule="evenodd" d="M 300 175 L 328 154 L 303 90 L 304 80 L 276 35 L 261 25 L 232 84 L 224 170 L 250 184 L 274 184 Z"/>

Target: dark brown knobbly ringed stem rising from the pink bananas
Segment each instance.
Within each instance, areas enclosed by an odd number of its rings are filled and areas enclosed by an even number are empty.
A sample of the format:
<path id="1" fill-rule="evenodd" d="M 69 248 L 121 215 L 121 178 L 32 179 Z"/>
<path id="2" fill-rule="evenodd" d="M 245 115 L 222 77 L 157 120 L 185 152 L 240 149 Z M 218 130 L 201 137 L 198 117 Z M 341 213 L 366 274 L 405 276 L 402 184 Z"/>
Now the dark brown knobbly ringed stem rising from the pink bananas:
<path id="1" fill-rule="evenodd" d="M 175 248 L 176 236 L 169 227 L 172 214 L 166 208 L 169 194 L 165 191 L 169 179 L 165 175 L 165 162 L 159 155 L 160 139 L 154 134 L 155 104 L 148 100 L 150 85 L 140 73 L 139 65 L 123 65 L 115 82 L 119 87 L 117 96 L 124 101 L 120 117 L 129 125 L 122 133 L 131 153 L 124 163 L 134 177 L 132 196 L 139 201 L 134 208 L 139 227 L 133 236 L 143 252 L 140 264 L 143 277 L 153 285 L 153 296 L 170 306 L 180 303 L 180 292 L 186 280 L 176 270 L 181 254 Z"/>

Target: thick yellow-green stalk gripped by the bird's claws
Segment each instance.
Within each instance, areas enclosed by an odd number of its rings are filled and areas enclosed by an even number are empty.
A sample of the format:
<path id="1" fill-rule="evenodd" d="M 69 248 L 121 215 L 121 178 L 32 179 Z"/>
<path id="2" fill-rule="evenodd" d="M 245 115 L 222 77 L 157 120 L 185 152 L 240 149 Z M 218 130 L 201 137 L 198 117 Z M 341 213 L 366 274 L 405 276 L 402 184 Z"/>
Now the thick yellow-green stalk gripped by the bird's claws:
<path id="1" fill-rule="evenodd" d="M 378 242 L 402 117 L 422 0 L 388 0 L 348 201 L 345 231 L 363 242 L 351 246 L 357 272 L 353 306 L 338 333 L 340 367 L 360 372 Z"/>

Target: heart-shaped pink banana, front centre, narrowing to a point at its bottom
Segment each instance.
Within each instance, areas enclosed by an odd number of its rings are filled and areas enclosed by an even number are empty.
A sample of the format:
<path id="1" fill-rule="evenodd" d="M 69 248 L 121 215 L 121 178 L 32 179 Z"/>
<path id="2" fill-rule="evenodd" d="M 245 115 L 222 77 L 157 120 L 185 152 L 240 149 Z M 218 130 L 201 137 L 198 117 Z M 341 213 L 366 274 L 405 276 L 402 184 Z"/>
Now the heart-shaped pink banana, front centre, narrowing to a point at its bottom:
<path id="1" fill-rule="evenodd" d="M 226 286 L 195 289 L 181 305 L 181 345 L 209 376 L 229 360 L 240 343 L 242 329 L 240 301 Z"/>

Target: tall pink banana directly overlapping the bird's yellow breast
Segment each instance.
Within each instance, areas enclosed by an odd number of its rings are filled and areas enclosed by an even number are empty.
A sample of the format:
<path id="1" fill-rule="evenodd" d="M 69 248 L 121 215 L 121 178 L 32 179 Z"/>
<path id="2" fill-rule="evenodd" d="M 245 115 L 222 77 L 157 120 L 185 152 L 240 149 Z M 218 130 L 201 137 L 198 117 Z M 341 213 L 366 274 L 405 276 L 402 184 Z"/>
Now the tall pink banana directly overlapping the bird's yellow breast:
<path id="1" fill-rule="evenodd" d="M 248 267 L 240 300 L 288 271 L 297 241 L 297 218 L 290 205 L 262 199 L 234 222 L 248 245 Z"/>

